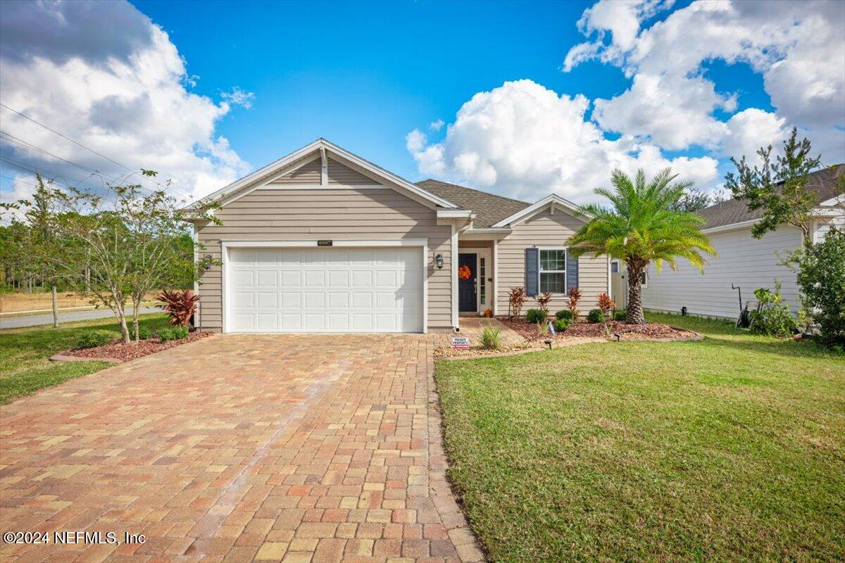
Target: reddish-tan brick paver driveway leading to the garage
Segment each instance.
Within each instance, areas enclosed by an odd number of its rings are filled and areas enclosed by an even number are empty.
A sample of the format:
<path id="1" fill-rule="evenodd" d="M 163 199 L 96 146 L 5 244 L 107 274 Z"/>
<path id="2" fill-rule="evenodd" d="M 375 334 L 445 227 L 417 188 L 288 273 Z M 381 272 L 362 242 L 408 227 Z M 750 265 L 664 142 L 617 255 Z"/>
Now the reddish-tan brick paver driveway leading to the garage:
<path id="1" fill-rule="evenodd" d="M 0 408 L 0 527 L 35 560 L 479 560 L 420 335 L 226 335 Z M 144 544 L 123 543 L 143 533 Z"/>

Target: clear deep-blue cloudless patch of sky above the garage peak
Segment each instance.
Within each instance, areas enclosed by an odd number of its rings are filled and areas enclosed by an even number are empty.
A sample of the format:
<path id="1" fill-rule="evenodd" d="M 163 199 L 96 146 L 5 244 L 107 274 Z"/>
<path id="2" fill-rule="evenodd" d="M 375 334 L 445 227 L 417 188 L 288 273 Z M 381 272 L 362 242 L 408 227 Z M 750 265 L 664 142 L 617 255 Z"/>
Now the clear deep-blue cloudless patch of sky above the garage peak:
<path id="1" fill-rule="evenodd" d="M 629 82 L 598 62 L 560 71 L 586 2 L 134 4 L 199 75 L 195 91 L 255 94 L 220 125 L 254 166 L 322 136 L 418 180 L 406 134 L 478 91 L 531 78 L 594 98 Z"/>

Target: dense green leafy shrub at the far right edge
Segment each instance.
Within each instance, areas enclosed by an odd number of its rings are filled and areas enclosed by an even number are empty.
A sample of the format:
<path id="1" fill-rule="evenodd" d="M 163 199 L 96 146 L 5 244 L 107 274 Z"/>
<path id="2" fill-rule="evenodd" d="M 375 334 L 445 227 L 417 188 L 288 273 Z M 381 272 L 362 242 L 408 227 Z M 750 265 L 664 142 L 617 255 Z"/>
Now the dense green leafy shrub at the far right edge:
<path id="1" fill-rule="evenodd" d="M 804 311 L 819 328 L 821 342 L 845 346 L 845 230 L 832 226 L 796 262 Z"/>

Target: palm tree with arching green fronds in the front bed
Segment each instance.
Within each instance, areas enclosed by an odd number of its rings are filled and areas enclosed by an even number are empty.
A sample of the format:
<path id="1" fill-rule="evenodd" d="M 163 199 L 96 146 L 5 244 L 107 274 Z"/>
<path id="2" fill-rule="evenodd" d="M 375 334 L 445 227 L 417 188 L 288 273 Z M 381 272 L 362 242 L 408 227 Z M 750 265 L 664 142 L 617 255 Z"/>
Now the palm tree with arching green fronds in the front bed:
<path id="1" fill-rule="evenodd" d="M 646 182 L 643 171 L 634 181 L 622 171 L 613 171 L 613 190 L 598 188 L 597 195 L 610 200 L 610 207 L 582 205 L 578 214 L 588 219 L 569 240 L 574 256 L 593 252 L 598 256 L 624 260 L 628 268 L 628 312 L 625 322 L 643 324 L 642 274 L 653 262 L 657 271 L 666 262 L 677 269 L 678 258 L 686 258 L 701 271 L 702 253 L 716 255 L 707 235 L 701 232 L 704 219 L 679 211 L 677 203 L 692 182 L 674 181 L 670 169 Z"/>

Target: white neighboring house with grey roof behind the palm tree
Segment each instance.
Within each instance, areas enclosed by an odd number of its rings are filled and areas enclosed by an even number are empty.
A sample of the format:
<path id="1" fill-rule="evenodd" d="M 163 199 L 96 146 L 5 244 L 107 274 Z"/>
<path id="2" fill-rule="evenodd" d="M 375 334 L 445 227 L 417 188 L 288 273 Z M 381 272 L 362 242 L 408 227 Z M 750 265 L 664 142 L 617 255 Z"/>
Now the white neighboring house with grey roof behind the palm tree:
<path id="1" fill-rule="evenodd" d="M 810 174 L 808 187 L 817 193 L 813 236 L 823 237 L 831 223 L 842 225 L 842 193 L 838 192 L 837 177 L 845 173 L 845 165 L 826 168 Z M 766 233 L 761 239 L 751 236 L 751 225 L 760 219 L 760 211 L 750 212 L 744 202 L 730 199 L 702 209 L 699 214 L 706 219 L 704 232 L 710 236 L 718 257 L 708 259 L 702 274 L 698 268 L 682 260 L 678 271 L 665 266 L 657 273 L 653 264 L 646 273 L 643 288 L 643 306 L 652 311 L 680 312 L 686 307 L 693 315 L 736 318 L 739 316 L 739 293 L 744 302 L 755 305 L 754 290 L 774 288 L 774 281 L 782 283 L 786 303 L 797 311 L 799 290 L 795 274 L 782 265 L 783 257 L 801 245 L 801 231 L 781 225 Z M 613 289 L 624 285 L 624 264 L 612 264 L 619 269 L 613 273 Z M 618 294 L 617 294 L 618 295 Z M 619 306 L 624 306 L 624 296 Z"/>

